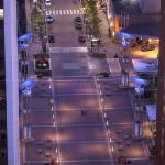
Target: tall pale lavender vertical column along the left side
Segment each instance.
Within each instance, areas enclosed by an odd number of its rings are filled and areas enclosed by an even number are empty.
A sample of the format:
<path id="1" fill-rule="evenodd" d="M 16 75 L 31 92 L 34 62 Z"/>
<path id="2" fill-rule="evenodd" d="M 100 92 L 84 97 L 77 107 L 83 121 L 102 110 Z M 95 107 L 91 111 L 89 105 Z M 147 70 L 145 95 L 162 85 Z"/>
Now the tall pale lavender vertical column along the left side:
<path id="1" fill-rule="evenodd" d="M 2 85 L 4 87 L 2 96 L 4 96 L 4 106 L 2 124 L 3 130 L 6 130 L 3 131 L 6 133 L 1 136 L 4 143 L 0 141 L 0 144 L 4 144 L 4 152 L 2 153 L 2 161 L 4 162 L 0 162 L 0 165 L 20 165 L 16 0 L 3 0 L 0 2 L 3 9 Z M 0 111 L 0 113 L 2 112 Z"/>

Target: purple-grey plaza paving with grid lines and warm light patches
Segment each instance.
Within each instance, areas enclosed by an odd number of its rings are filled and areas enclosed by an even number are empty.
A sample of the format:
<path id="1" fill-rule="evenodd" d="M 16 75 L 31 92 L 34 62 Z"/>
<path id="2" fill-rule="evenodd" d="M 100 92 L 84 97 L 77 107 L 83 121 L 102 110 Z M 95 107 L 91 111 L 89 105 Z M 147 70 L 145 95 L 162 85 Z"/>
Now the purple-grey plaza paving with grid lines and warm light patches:
<path id="1" fill-rule="evenodd" d="M 31 138 L 25 143 L 25 164 L 58 158 L 64 165 L 107 165 L 116 164 L 120 155 L 135 161 L 147 158 L 143 143 L 132 139 L 134 117 L 129 91 L 117 92 L 118 84 L 120 79 L 112 77 L 97 82 L 95 77 L 36 81 L 26 119 Z"/>

